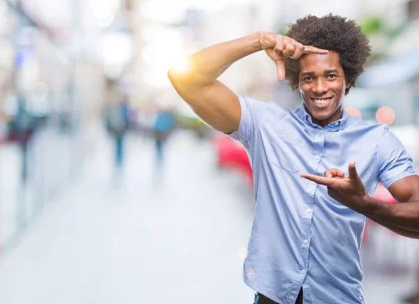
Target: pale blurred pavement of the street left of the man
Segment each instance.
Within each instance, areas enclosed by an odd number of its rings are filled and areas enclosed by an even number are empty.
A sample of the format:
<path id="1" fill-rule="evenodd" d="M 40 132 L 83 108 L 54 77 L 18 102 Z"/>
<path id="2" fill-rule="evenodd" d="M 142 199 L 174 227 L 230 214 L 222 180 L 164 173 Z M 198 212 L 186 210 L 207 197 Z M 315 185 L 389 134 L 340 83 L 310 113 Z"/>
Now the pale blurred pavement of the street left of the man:
<path id="1" fill-rule="evenodd" d="M 174 139 L 160 186 L 152 143 L 128 142 L 119 188 L 101 143 L 80 180 L 3 259 L 0 303 L 251 301 L 237 254 L 249 238 L 251 194 L 213 168 L 208 143 Z"/>

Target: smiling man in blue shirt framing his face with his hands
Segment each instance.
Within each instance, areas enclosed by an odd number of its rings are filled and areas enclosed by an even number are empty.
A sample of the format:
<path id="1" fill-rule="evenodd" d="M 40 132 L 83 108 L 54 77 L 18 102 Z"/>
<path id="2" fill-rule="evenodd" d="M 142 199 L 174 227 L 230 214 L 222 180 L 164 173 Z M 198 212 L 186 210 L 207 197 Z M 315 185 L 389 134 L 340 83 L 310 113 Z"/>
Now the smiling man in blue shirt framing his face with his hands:
<path id="1" fill-rule="evenodd" d="M 300 108 L 237 96 L 216 80 L 260 50 L 278 79 L 300 91 Z M 419 238 L 419 177 L 404 147 L 387 125 L 342 108 L 369 53 L 354 21 L 309 15 L 286 36 L 257 32 L 212 45 L 191 55 L 188 69 L 168 73 L 205 123 L 249 153 L 256 214 L 244 282 L 255 303 L 364 303 L 359 249 L 367 217 Z M 378 181 L 400 204 L 372 198 Z"/>

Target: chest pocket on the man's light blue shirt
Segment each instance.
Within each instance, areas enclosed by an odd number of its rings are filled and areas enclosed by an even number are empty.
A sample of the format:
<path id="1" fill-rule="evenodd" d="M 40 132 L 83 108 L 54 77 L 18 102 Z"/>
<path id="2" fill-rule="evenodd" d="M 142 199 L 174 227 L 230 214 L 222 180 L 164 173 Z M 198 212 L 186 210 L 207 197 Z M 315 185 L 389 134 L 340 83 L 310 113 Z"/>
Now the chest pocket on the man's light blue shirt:
<path id="1" fill-rule="evenodd" d="M 277 138 L 274 138 L 267 149 L 270 163 L 289 173 L 300 171 L 301 153 L 307 141 L 297 131 L 287 128 L 281 123 L 275 126 L 274 131 Z"/>

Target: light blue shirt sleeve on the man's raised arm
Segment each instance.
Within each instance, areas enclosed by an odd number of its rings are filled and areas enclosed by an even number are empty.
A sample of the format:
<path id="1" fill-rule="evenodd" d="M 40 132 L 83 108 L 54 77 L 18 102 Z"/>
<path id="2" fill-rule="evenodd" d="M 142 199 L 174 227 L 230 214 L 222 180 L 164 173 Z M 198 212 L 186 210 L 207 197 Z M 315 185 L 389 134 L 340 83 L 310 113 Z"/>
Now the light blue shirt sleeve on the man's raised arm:
<path id="1" fill-rule="evenodd" d="M 245 146 L 247 144 L 253 145 L 254 133 L 258 129 L 265 113 L 267 113 L 270 103 L 241 95 L 237 95 L 237 97 L 242 108 L 242 117 L 240 118 L 239 129 L 228 134 L 228 136 L 239 140 Z"/>

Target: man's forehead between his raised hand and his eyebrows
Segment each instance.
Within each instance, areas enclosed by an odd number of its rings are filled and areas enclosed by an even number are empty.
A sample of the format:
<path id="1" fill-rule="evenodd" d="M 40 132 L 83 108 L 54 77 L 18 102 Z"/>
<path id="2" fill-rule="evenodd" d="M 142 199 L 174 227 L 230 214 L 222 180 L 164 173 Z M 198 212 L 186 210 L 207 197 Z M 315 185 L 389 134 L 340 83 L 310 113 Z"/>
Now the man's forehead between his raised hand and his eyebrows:
<path id="1" fill-rule="evenodd" d="M 343 68 L 339 64 L 339 54 L 337 52 L 328 52 L 325 55 L 307 54 L 300 58 L 300 73 L 322 73 L 330 69 L 343 72 Z"/>

